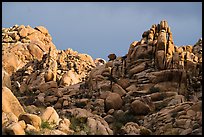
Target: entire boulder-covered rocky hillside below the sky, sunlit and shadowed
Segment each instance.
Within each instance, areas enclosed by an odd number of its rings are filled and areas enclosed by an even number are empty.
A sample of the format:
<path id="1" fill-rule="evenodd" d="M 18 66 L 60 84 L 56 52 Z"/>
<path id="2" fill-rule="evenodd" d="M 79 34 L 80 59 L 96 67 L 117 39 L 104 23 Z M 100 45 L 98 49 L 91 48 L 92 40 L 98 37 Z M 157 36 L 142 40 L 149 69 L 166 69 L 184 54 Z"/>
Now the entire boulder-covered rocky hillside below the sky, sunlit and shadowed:
<path id="1" fill-rule="evenodd" d="M 176 46 L 165 20 L 108 62 L 42 26 L 3 28 L 2 50 L 3 134 L 202 134 L 202 39 Z"/>

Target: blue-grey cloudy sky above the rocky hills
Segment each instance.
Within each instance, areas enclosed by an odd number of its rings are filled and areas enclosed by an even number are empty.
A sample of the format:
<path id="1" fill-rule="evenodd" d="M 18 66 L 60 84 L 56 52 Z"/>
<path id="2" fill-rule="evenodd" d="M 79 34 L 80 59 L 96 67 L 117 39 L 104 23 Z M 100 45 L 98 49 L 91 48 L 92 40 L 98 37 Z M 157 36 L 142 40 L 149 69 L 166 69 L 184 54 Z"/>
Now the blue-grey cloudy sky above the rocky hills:
<path id="1" fill-rule="evenodd" d="M 153 24 L 167 20 L 176 46 L 202 37 L 202 2 L 3 2 L 2 27 L 44 26 L 59 50 L 108 60 L 127 54 Z"/>

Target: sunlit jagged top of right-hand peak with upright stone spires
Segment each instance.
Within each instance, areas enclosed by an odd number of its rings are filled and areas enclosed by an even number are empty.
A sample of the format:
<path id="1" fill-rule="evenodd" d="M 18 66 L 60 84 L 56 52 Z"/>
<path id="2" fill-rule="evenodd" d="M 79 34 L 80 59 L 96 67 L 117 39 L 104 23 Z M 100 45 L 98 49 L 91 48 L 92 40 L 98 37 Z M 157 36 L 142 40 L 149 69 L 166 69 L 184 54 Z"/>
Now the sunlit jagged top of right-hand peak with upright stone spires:
<path id="1" fill-rule="evenodd" d="M 140 41 L 130 44 L 127 54 L 128 62 L 140 58 L 154 58 L 157 69 L 189 68 L 186 60 L 193 64 L 202 62 L 202 39 L 194 46 L 176 46 L 173 42 L 172 32 L 167 21 L 162 20 L 160 24 L 154 24 L 142 34 Z"/>

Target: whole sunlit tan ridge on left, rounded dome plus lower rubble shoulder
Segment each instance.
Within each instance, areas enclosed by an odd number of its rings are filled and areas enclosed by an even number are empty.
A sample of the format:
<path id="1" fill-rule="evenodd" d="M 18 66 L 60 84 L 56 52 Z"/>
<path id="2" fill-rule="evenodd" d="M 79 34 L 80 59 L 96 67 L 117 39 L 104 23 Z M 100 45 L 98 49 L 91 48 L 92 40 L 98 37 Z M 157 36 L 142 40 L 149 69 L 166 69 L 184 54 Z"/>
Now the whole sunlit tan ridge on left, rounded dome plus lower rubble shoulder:
<path id="1" fill-rule="evenodd" d="M 12 81 L 31 87 L 49 81 L 60 86 L 73 85 L 84 81 L 95 67 L 87 54 L 72 49 L 57 50 L 48 30 L 42 26 L 3 28 L 2 51 L 2 67 Z M 21 79 L 16 79 L 19 76 Z"/>

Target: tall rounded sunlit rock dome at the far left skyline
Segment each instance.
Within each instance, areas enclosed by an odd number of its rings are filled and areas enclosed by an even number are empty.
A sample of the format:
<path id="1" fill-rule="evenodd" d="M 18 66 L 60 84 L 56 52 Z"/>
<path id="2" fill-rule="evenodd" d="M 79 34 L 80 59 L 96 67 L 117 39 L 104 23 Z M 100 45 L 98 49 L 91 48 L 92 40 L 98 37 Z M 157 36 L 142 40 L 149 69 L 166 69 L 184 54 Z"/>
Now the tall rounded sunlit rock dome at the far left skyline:
<path id="1" fill-rule="evenodd" d="M 56 49 L 48 30 L 42 26 L 31 28 L 15 25 L 2 28 L 2 66 L 9 75 L 29 61 L 41 60 L 49 48 L 53 51 Z"/>

